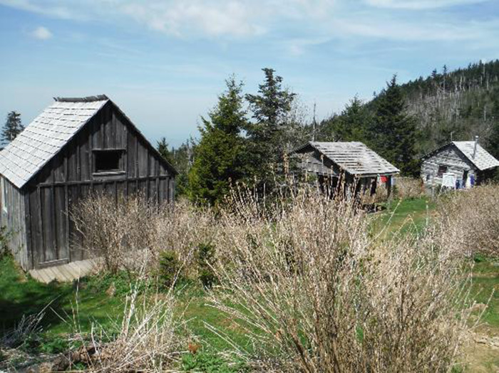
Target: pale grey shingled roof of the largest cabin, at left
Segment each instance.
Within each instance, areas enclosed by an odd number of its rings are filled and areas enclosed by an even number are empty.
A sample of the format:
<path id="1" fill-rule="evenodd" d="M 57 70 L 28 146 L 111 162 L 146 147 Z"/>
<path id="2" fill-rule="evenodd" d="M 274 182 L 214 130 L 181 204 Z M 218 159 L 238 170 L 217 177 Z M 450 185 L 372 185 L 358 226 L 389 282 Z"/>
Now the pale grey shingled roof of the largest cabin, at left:
<path id="1" fill-rule="evenodd" d="M 106 103 L 110 102 L 118 108 L 106 95 L 55 98 L 55 100 L 0 152 L 0 174 L 19 189 L 24 187 L 45 164 L 61 151 L 63 146 Z M 136 127 L 135 130 L 137 130 Z M 140 131 L 137 130 L 137 132 L 140 137 L 143 137 Z M 150 145 L 149 142 L 147 143 Z M 157 152 L 152 145 L 150 147 Z M 161 159 L 164 160 L 163 157 Z M 165 164 L 175 174 L 177 173 L 168 162 L 165 161 Z"/>

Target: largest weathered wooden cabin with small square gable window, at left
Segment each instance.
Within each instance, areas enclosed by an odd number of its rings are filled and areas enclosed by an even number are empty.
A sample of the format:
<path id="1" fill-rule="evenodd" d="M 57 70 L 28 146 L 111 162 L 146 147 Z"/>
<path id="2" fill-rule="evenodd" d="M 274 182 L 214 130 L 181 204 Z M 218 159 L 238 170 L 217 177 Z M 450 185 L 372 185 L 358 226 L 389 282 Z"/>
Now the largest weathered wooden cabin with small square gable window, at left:
<path id="1" fill-rule="evenodd" d="M 0 224 L 24 270 L 86 258 L 68 211 L 92 192 L 172 201 L 177 172 L 105 95 L 56 98 L 0 152 Z"/>

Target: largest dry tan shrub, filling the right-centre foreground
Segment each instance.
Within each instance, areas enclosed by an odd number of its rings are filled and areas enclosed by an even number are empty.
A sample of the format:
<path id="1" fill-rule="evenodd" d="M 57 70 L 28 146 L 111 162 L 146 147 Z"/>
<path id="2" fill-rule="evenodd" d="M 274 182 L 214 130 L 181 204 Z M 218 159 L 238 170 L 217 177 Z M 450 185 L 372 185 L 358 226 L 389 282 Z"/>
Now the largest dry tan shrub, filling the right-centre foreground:
<path id="1" fill-rule="evenodd" d="M 216 268 L 212 302 L 262 362 L 290 372 L 453 367 L 468 283 L 431 236 L 374 248 L 362 211 L 310 192 L 259 206 L 246 194 L 222 213 L 217 245 L 232 255 Z"/>

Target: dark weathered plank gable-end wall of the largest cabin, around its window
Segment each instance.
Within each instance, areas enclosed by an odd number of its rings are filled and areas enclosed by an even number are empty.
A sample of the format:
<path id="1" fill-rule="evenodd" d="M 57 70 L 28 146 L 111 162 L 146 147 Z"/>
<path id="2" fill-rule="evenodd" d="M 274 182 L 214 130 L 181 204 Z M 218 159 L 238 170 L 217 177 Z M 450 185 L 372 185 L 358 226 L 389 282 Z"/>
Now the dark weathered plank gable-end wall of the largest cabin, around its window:
<path id="1" fill-rule="evenodd" d="M 94 174 L 95 149 L 123 149 L 123 173 Z M 26 187 L 34 268 L 88 258 L 68 211 L 95 192 L 141 193 L 155 203 L 173 201 L 173 176 L 160 156 L 108 103 Z"/>

